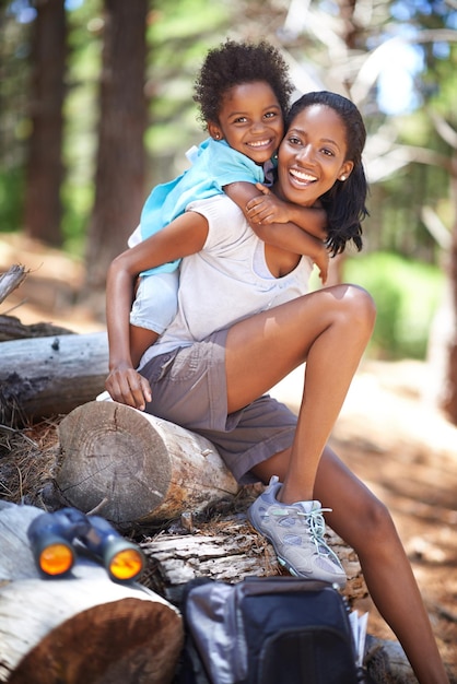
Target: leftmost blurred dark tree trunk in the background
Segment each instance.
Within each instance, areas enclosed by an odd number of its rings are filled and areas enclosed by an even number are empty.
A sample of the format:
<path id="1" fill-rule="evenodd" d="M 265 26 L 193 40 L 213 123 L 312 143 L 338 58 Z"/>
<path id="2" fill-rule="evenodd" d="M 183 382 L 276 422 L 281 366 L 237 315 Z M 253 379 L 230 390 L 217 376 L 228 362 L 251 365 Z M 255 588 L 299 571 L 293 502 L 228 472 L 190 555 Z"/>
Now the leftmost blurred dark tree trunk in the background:
<path id="1" fill-rule="evenodd" d="M 62 105 L 66 69 L 65 0 L 35 3 L 32 46 L 32 134 L 25 188 L 24 223 L 30 237 L 60 246 Z"/>

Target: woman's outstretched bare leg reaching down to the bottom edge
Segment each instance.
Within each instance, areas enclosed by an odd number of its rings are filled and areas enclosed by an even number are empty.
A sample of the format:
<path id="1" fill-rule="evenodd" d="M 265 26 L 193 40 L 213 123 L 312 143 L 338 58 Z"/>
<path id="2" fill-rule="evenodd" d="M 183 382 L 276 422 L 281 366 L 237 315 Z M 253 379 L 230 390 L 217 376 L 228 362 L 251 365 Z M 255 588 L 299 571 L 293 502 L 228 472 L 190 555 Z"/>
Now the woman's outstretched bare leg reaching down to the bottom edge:
<path id="1" fill-rule="evenodd" d="M 283 451 L 255 472 L 267 483 L 284 479 L 291 456 Z M 330 507 L 332 529 L 359 555 L 370 594 L 398 637 L 420 684 L 448 684 L 411 565 L 386 507 L 327 447 L 317 471 L 316 496 Z"/>

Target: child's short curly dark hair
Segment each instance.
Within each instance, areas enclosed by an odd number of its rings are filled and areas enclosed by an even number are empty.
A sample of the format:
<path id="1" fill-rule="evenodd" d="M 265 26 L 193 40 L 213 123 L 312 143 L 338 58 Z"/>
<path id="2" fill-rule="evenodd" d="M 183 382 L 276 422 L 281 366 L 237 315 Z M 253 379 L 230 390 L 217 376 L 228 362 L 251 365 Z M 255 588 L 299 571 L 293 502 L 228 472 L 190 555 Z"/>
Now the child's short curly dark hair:
<path id="1" fill-rule="evenodd" d="M 210 50 L 195 82 L 199 120 L 218 122 L 227 90 L 255 81 L 271 86 L 285 119 L 294 86 L 289 80 L 289 67 L 277 48 L 265 40 L 258 44 L 226 40 Z"/>

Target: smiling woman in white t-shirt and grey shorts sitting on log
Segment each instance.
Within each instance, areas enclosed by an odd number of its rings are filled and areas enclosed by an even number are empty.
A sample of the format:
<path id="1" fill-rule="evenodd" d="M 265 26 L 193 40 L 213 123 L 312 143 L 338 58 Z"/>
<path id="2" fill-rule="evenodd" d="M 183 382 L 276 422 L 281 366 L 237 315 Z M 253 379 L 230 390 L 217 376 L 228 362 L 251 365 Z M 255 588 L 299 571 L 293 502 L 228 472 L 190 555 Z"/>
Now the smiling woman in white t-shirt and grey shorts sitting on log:
<path id="1" fill-rule="evenodd" d="M 320 197 L 350 204 L 363 180 L 364 139 L 352 103 L 304 95 L 279 149 L 274 193 L 303 207 Z M 134 280 L 177 258 L 178 314 L 138 373 L 128 330 Z M 358 553 L 420 684 L 447 684 L 387 509 L 326 444 L 373 330 L 373 300 L 348 284 L 305 294 L 307 272 L 308 259 L 259 240 L 227 197 L 194 202 L 109 269 L 106 388 L 117 401 L 207 436 L 241 483 L 270 483 L 249 510 L 254 524 L 295 574 L 343 583 L 324 541 L 325 515 Z M 295 416 L 266 392 L 303 362 Z"/>

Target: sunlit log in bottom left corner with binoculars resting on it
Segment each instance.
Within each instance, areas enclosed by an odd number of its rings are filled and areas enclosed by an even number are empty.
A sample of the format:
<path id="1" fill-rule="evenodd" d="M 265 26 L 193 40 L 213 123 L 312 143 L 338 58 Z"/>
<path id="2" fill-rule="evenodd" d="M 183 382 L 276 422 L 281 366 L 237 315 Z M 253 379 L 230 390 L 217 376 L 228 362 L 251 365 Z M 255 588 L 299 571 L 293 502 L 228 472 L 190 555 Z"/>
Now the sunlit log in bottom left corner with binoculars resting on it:
<path id="1" fill-rule="evenodd" d="M 69 578 L 42 578 L 26 536 L 40 512 L 0 502 L 0 682 L 172 682 L 184 636 L 177 609 L 137 582 L 110 581 L 89 558 Z"/>

